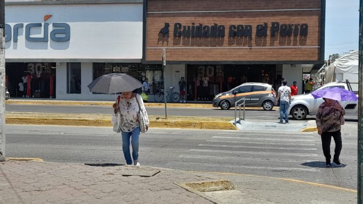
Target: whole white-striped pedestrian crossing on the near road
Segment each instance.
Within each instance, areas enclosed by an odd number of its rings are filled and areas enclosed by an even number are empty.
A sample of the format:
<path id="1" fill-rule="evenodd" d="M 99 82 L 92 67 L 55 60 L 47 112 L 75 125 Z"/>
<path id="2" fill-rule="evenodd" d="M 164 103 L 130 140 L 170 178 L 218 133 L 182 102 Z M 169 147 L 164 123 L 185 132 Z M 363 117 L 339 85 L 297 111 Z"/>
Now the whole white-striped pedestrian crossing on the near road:
<path id="1" fill-rule="evenodd" d="M 180 154 L 172 166 L 195 171 L 208 169 L 303 178 L 305 174 L 321 171 L 305 164 L 323 159 L 320 137 L 314 133 L 222 131 Z"/>

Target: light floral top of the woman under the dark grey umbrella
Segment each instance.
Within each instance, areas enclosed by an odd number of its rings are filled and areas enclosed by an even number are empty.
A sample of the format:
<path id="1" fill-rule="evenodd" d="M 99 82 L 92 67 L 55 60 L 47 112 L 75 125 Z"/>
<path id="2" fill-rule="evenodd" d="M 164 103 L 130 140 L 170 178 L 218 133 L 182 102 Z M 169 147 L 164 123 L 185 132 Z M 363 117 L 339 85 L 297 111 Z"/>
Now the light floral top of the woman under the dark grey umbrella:
<path id="1" fill-rule="evenodd" d="M 149 125 L 149 118 L 145 109 L 144 101 L 141 95 L 136 94 L 136 97 L 139 100 L 141 111 L 143 112 L 143 115 L 145 117 L 146 125 Z M 121 129 L 124 132 L 132 132 L 136 127 L 139 127 L 140 125 L 138 117 L 140 109 L 136 97 L 127 100 L 124 99 L 122 96 L 120 96 L 119 105 L 118 105 L 118 109 L 120 111 L 120 116 L 121 116 L 120 121 L 117 121 L 116 114 L 114 113 L 112 114 L 112 119 L 111 119 L 112 124 L 120 122 Z"/>

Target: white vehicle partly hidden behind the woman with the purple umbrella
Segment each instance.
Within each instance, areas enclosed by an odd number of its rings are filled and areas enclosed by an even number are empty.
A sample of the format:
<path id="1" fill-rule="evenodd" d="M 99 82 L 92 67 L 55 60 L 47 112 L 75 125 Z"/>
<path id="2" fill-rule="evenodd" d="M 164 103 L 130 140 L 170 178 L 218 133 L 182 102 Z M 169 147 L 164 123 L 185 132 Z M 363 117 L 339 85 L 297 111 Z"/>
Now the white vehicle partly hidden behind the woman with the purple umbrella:
<path id="1" fill-rule="evenodd" d="M 319 87 L 317 90 L 333 87 L 340 87 L 346 90 L 351 90 L 347 82 L 327 83 Z M 323 102 L 323 98 L 315 99 L 311 93 L 304 95 L 295 95 L 291 97 L 291 104 L 288 113 L 290 113 L 292 118 L 296 120 L 304 120 L 308 115 L 316 115 L 319 106 Z M 344 108 L 346 115 L 357 115 L 358 101 L 339 101 L 339 103 Z"/>

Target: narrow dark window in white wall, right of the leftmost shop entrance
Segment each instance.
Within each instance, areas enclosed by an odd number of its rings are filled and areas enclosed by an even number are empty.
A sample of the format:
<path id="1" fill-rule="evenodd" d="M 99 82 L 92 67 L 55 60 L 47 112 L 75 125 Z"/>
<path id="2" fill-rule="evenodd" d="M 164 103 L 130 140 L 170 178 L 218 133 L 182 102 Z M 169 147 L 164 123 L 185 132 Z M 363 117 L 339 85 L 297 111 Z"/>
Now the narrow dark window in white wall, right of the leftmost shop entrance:
<path id="1" fill-rule="evenodd" d="M 67 63 L 67 93 L 81 93 L 81 63 Z"/>

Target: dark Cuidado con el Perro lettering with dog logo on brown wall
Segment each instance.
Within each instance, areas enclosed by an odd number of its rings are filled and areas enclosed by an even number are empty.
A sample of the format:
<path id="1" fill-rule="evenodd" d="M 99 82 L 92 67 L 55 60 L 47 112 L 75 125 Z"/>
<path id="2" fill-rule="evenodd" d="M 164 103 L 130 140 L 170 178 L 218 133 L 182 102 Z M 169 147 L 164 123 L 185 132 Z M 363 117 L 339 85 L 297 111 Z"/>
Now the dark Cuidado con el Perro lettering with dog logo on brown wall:
<path id="1" fill-rule="evenodd" d="M 270 36 L 274 37 L 276 32 L 281 37 L 286 36 L 307 36 L 308 24 L 280 24 L 279 22 L 272 22 L 269 26 L 268 23 L 259 24 L 256 26 L 255 33 L 257 37 L 267 37 L 268 29 L 270 29 Z M 164 27 L 160 29 L 159 36 L 169 36 L 169 23 L 165 23 Z M 193 38 L 223 38 L 226 35 L 226 27 L 224 25 L 203 25 L 195 24 L 182 25 L 181 23 L 174 24 L 173 37 L 193 37 Z M 253 27 L 252 25 L 229 25 L 228 37 L 249 37 L 252 39 Z"/>

